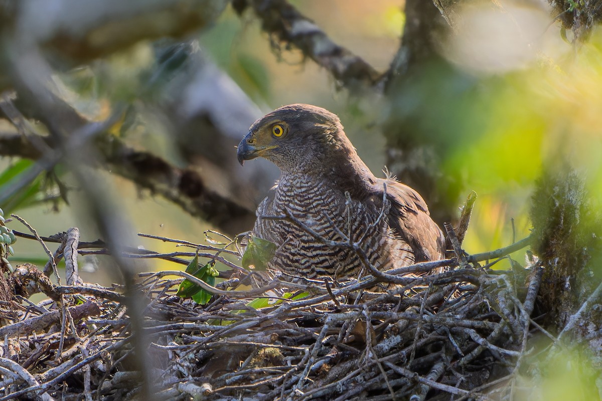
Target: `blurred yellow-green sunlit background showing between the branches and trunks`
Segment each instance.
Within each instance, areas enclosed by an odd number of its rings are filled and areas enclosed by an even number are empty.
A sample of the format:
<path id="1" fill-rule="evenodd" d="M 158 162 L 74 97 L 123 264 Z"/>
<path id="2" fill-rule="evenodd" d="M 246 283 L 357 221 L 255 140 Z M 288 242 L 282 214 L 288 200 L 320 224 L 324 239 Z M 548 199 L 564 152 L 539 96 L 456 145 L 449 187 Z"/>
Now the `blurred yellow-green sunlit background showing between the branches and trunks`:
<path id="1" fill-rule="evenodd" d="M 298 0 L 291 4 L 335 42 L 380 72 L 388 68 L 399 47 L 405 23 L 403 1 Z M 407 93 L 395 99 L 349 96 L 328 72 L 311 60 L 304 60 L 301 52 L 273 51 L 258 20 L 250 14 L 241 18 L 230 7 L 214 26 L 196 38 L 200 51 L 256 103 L 256 117 L 288 103 L 313 103 L 330 109 L 340 115 L 359 155 L 377 176 L 386 163 L 383 122 L 391 118 L 391 113 L 411 115 L 407 121 L 413 121 L 417 132 L 429 135 L 441 149 L 441 180 L 453 177 L 455 183 L 453 191 L 448 191 L 452 195 L 447 193 L 453 196 L 452 201 L 459 207 L 470 191 L 479 196 L 464 242 L 468 253 L 500 248 L 529 234 L 534 183 L 542 167 L 556 161 L 566 160 L 583 173 L 589 198 L 600 210 L 600 29 L 594 29 L 585 43 L 574 42 L 571 32 L 554 21 L 545 1 L 474 2 L 458 14 L 462 17 L 454 21 L 457 23 L 452 38 L 440 49 L 440 54 L 454 66 L 453 71 L 433 67 L 431 76 L 415 82 Z M 152 47 L 152 43 L 142 41 L 128 51 L 61 76 L 66 93 L 81 112 L 96 119 L 107 117 L 115 99 L 139 96 L 153 61 Z M 241 138 L 245 134 L 240 130 Z M 169 129 L 150 111 L 127 133 L 129 142 L 151 149 L 175 164 L 182 163 L 170 138 Z M 1 167 L 17 162 L 4 160 Z M 128 225 L 133 232 L 202 242 L 203 230 L 214 228 L 191 219 L 163 198 L 138 191 L 127 180 L 110 174 L 102 177 L 114 186 L 114 195 L 131 219 Z M 65 182 L 72 185 L 68 176 Z M 2 207 L 25 218 L 40 234 L 50 235 L 76 226 L 82 240 L 95 240 L 98 233 L 86 218 L 80 201 L 73 188 L 70 206 L 59 204 L 58 210 L 49 204 L 21 204 L 12 210 Z M 17 225 L 13 222 L 11 228 L 23 231 Z M 139 239 L 139 243 L 155 251 L 173 251 L 173 245 L 157 240 Z M 19 260 L 37 265 L 46 262 L 45 253 L 33 241 L 19 240 L 14 248 L 17 257 L 13 264 Z M 513 257 L 523 262 L 523 254 L 521 251 Z M 81 263 L 84 280 L 111 280 L 111 275 L 103 272 L 102 260 L 82 258 Z M 166 264 L 149 262 L 147 268 L 168 269 Z M 169 269 L 176 267 L 182 268 Z M 90 271 L 85 272 L 85 268 Z M 591 390 L 592 383 L 600 381 L 599 376 L 595 378 L 594 368 L 581 352 L 554 360 L 547 369 L 548 383 L 517 384 L 536 385 L 537 398 L 525 399 L 589 400 L 600 396 Z"/>

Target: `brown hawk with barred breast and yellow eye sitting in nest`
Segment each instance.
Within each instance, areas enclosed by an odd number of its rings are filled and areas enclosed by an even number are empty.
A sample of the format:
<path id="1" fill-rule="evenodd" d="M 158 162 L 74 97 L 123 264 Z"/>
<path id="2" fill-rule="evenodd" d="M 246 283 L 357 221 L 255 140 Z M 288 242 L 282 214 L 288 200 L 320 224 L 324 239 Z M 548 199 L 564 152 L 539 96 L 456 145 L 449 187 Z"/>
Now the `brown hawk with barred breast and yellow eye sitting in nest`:
<path id="1" fill-rule="evenodd" d="M 393 177 L 374 177 L 337 115 L 323 108 L 289 105 L 266 114 L 237 155 L 241 164 L 262 157 L 281 170 L 253 227 L 279 246 L 272 268 L 302 277 L 357 274 L 365 261 L 356 244 L 377 269 L 443 257 L 444 237 L 423 198 Z"/>

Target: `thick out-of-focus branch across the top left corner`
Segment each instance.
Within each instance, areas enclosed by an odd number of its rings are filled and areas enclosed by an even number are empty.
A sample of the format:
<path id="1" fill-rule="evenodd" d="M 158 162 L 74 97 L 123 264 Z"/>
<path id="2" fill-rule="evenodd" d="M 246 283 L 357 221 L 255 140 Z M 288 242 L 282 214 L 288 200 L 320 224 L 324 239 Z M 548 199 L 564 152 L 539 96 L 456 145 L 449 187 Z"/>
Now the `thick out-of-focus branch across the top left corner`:
<path id="1" fill-rule="evenodd" d="M 5 17 L 27 29 L 43 51 L 71 68 L 140 40 L 182 37 L 210 25 L 226 0 L 48 0 L 22 2 Z"/>

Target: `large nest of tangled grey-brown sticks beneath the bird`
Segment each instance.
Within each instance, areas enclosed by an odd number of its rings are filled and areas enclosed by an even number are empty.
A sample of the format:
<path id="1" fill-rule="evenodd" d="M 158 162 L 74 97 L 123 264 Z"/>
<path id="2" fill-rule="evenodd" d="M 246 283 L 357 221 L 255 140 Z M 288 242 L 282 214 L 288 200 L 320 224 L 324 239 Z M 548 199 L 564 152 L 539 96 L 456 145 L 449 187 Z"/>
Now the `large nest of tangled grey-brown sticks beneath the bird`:
<path id="1" fill-rule="evenodd" d="M 51 299 L 4 302 L 0 401 L 145 391 L 159 400 L 503 399 L 541 269 L 494 272 L 474 259 L 435 262 L 448 270 L 434 275 L 421 263 L 344 284 L 275 281 L 262 295 L 228 291 L 233 276 L 206 305 L 175 295 L 183 273 L 138 275 L 126 297 L 54 286 L 21 266 L 12 280 Z"/>

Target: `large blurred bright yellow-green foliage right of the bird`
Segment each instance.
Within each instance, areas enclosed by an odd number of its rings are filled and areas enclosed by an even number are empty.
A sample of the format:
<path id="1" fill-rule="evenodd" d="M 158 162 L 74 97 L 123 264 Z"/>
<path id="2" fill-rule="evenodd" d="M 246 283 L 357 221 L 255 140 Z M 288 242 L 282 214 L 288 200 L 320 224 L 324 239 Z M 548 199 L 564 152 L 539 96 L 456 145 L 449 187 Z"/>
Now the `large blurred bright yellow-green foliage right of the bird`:
<path id="1" fill-rule="evenodd" d="M 578 53 L 566 46 L 559 57 L 540 54 L 539 63 L 503 74 L 433 63 L 395 92 L 389 142 L 434 144 L 450 203 L 479 194 L 469 252 L 529 234 L 533 183 L 556 160 L 580 171 L 589 201 L 602 206 L 601 49 L 598 30 Z"/>

